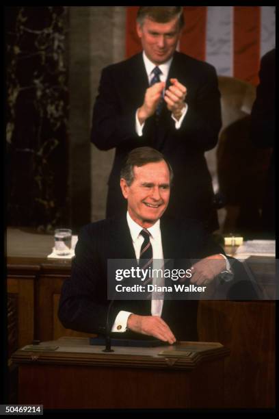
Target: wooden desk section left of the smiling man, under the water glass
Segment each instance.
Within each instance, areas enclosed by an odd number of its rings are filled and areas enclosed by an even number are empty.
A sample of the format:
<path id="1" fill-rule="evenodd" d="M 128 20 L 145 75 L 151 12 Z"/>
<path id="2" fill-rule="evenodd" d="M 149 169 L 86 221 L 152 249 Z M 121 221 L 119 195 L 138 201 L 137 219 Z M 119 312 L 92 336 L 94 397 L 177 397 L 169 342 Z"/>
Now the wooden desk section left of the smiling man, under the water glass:
<path id="1" fill-rule="evenodd" d="M 62 284 L 70 277 L 70 259 L 47 259 L 53 235 L 31 229 L 7 231 L 9 355 L 33 340 L 90 336 L 65 329 L 57 317 Z"/>

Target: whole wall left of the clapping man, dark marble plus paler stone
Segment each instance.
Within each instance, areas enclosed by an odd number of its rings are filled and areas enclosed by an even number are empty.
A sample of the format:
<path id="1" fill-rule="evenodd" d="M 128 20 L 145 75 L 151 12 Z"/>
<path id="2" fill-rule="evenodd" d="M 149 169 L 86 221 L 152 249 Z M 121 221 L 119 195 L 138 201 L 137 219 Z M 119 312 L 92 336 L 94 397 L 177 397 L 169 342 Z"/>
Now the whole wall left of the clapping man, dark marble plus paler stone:
<path id="1" fill-rule="evenodd" d="M 105 216 L 114 150 L 90 144 L 101 70 L 124 59 L 124 6 L 6 7 L 8 225 Z"/>

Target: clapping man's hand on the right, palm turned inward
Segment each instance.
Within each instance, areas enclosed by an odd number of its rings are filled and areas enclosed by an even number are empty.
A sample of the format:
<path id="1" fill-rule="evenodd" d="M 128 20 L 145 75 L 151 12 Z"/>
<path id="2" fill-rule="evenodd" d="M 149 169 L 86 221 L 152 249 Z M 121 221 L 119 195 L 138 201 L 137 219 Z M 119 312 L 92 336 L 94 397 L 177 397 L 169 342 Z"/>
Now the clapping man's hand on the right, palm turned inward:
<path id="1" fill-rule="evenodd" d="M 179 83 L 178 79 L 170 79 L 172 86 L 165 90 L 165 102 L 168 110 L 172 112 L 174 118 L 179 120 L 182 114 L 183 107 L 185 107 L 185 97 L 187 95 L 187 88 Z"/>

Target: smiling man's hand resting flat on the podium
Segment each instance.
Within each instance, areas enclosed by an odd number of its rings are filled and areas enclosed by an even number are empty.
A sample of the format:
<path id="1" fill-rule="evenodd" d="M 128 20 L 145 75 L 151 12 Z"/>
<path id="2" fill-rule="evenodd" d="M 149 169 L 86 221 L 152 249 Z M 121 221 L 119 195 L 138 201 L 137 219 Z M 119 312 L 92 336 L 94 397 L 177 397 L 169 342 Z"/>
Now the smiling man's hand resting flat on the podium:
<path id="1" fill-rule="evenodd" d="M 137 316 L 131 314 L 127 322 L 128 329 L 143 335 L 154 336 L 163 342 L 173 344 L 176 342 L 170 327 L 159 316 Z"/>

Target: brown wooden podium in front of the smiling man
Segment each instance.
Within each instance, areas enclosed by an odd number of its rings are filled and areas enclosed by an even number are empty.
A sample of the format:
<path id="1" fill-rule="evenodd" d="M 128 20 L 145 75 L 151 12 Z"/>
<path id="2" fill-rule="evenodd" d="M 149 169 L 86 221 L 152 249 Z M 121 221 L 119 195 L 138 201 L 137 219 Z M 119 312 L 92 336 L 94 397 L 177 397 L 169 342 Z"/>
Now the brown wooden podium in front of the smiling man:
<path id="1" fill-rule="evenodd" d="M 216 342 L 155 348 L 92 346 L 60 338 L 25 346 L 18 364 L 18 403 L 44 409 L 224 407 L 224 357 Z"/>

